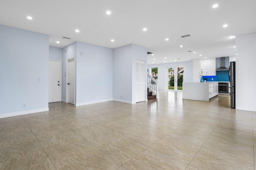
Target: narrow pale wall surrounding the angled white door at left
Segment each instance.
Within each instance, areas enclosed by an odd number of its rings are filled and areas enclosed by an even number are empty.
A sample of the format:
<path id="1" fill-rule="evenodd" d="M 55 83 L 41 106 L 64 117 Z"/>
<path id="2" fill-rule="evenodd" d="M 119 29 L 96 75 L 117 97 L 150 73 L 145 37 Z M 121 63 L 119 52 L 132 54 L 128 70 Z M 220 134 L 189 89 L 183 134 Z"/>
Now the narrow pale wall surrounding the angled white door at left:
<path id="1" fill-rule="evenodd" d="M 67 49 L 67 52 L 65 52 L 64 50 Z M 75 57 L 76 58 L 76 42 L 62 48 L 62 54 L 63 54 L 63 57 L 62 57 L 62 101 L 63 102 L 66 102 L 66 76 L 65 76 L 65 73 L 66 73 L 66 62 L 67 62 L 67 59 L 70 59 L 72 57 Z M 76 61 L 76 59 L 75 59 Z M 76 78 L 76 70 L 75 70 L 75 78 Z M 75 88 L 76 90 L 76 88 Z M 76 92 L 75 92 L 76 94 Z M 75 102 L 76 102 L 76 96 L 75 96 Z"/>

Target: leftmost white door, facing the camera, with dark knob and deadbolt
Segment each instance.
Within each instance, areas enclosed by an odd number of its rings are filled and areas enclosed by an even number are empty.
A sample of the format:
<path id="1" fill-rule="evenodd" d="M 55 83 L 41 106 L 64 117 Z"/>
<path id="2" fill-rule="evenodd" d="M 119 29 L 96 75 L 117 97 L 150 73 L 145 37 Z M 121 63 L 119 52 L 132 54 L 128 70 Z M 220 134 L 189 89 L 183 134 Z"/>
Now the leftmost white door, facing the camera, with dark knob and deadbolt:
<path id="1" fill-rule="evenodd" d="M 49 103 L 61 102 L 61 62 L 49 61 Z"/>

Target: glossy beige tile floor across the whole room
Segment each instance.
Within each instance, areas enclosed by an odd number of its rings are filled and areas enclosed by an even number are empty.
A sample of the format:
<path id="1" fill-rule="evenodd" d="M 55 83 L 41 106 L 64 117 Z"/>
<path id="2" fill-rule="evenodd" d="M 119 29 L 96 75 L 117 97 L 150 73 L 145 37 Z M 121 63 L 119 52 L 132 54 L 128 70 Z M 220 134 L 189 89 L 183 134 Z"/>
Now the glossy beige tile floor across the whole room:
<path id="1" fill-rule="evenodd" d="M 256 112 L 229 96 L 104 102 L 0 119 L 0 170 L 254 169 Z"/>

